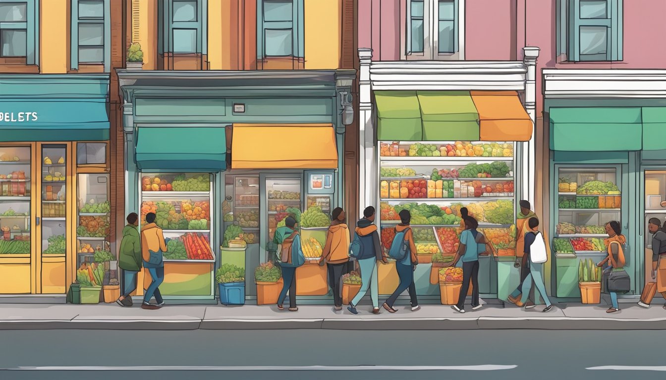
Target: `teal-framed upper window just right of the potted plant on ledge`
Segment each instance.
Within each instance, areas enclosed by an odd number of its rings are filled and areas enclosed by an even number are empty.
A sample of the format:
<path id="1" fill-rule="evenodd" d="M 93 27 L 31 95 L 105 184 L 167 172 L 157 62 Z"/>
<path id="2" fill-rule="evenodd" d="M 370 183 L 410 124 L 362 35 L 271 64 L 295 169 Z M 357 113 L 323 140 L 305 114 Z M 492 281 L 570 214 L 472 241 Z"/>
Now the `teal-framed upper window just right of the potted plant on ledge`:
<path id="1" fill-rule="evenodd" d="M 207 1 L 164 0 L 161 53 L 205 54 Z"/>

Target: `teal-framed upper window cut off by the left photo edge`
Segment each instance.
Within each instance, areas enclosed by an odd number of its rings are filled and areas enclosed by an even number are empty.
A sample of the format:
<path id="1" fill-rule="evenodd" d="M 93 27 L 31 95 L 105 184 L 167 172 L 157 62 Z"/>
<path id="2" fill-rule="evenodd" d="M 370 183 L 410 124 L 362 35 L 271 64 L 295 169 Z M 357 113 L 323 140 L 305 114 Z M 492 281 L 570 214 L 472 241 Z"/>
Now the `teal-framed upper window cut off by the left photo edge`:
<path id="1" fill-rule="evenodd" d="M 37 0 L 0 0 L 1 59 L 18 59 L 27 65 L 39 61 L 35 49 L 39 35 L 38 10 Z"/>

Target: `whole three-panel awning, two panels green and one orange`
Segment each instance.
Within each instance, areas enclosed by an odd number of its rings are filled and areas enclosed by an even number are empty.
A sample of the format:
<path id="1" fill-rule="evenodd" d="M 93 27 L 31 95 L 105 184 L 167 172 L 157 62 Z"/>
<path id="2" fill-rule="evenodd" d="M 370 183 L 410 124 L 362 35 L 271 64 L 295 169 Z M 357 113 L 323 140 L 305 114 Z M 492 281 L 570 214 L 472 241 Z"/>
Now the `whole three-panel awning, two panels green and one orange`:
<path id="1" fill-rule="evenodd" d="M 375 91 L 378 140 L 527 141 L 515 91 Z"/>

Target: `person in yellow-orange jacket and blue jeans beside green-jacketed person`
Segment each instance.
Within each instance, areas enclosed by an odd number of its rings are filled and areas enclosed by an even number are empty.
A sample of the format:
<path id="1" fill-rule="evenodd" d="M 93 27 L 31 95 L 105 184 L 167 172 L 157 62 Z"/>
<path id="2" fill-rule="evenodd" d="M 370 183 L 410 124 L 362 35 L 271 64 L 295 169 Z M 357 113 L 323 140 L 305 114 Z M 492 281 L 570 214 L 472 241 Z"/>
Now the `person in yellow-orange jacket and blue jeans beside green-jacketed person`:
<path id="1" fill-rule="evenodd" d="M 146 215 L 146 225 L 141 228 L 141 251 L 143 268 L 151 275 L 151 285 L 143 295 L 142 309 L 155 310 L 165 304 L 159 286 L 165 280 L 164 254 L 166 252 L 165 236 L 162 229 L 155 224 L 157 216 L 153 212 Z M 151 305 L 151 298 L 155 295 L 157 306 Z"/>

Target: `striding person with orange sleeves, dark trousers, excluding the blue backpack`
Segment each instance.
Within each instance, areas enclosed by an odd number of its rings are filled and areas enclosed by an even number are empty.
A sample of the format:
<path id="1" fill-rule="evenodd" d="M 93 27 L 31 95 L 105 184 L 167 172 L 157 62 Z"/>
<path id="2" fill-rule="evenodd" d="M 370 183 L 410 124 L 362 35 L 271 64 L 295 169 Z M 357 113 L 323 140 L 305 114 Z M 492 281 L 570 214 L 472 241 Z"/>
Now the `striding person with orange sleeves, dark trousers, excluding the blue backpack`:
<path id="1" fill-rule="evenodd" d="M 412 304 L 412 311 L 417 311 L 421 307 L 418 305 L 418 299 L 416 299 L 416 285 L 414 285 L 414 270 L 418 265 L 418 260 L 416 258 L 416 245 L 414 244 L 414 234 L 412 233 L 412 228 L 410 227 L 410 222 L 412 221 L 412 214 L 408 210 L 402 210 L 398 213 L 400 216 L 400 224 L 396 226 L 396 238 L 398 238 L 398 233 L 404 232 L 404 241 L 408 242 L 409 251 L 404 259 L 396 262 L 396 270 L 398 271 L 398 278 L 400 278 L 400 284 L 393 294 L 386 299 L 384 302 L 384 309 L 389 313 L 395 313 L 396 309 L 393 308 L 393 304 L 398 299 L 403 291 L 408 290 L 410 293 L 410 303 Z M 394 239 L 396 239 L 394 238 Z"/>

